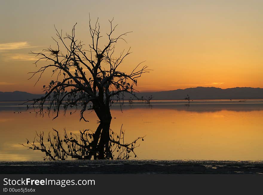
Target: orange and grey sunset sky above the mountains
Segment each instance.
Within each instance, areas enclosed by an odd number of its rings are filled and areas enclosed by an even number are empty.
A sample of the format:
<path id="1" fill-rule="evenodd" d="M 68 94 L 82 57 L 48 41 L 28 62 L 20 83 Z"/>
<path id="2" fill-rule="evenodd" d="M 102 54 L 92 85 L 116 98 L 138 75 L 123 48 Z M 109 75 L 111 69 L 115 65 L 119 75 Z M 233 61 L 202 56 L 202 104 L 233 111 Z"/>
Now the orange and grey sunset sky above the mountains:
<path id="1" fill-rule="evenodd" d="M 146 60 L 153 69 L 138 80 L 139 91 L 197 86 L 263 88 L 263 1 L 4 1 L 0 7 L 0 91 L 41 93 L 50 74 L 27 80 L 39 52 L 55 46 L 53 25 L 86 45 L 88 13 L 99 17 L 101 32 L 108 19 L 119 24 L 115 35 L 133 31 L 117 48 L 133 53 L 120 70 Z M 104 36 L 105 37 L 105 36 Z M 104 44 L 104 43 L 101 43 Z M 41 62 L 42 63 L 42 62 Z"/>

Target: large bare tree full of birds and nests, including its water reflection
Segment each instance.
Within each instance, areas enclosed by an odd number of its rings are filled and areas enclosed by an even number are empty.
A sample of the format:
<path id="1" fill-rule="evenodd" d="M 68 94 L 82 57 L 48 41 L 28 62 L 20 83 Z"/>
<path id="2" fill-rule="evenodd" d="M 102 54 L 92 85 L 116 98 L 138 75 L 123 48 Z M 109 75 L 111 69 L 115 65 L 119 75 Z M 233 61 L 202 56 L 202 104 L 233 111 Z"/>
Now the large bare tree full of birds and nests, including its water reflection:
<path id="1" fill-rule="evenodd" d="M 113 135 L 115 134 L 110 130 L 112 119 L 110 106 L 114 102 L 119 103 L 121 106 L 125 93 L 130 93 L 136 97 L 134 86 L 137 86 L 137 79 L 149 70 L 147 66 L 141 66 L 142 63 L 136 65 L 130 73 L 119 70 L 124 58 L 131 52 L 130 49 L 127 52 L 123 50 L 118 57 L 114 57 L 115 43 L 124 40 L 123 37 L 129 32 L 112 38 L 117 25 L 113 26 L 112 20 L 109 20 L 109 23 L 108 42 L 101 49 L 99 48 L 99 42 L 102 36 L 97 20 L 94 28 L 91 26 L 91 21 L 89 21 L 91 44 L 87 50 L 85 50 L 84 44 L 75 38 L 75 24 L 71 35 L 66 33 L 65 37 L 62 36 L 62 31 L 59 32 L 55 28 L 58 40 L 54 38 L 53 40 L 57 43 L 56 49 L 44 49 L 43 52 L 39 53 L 31 52 L 36 56 L 40 56 L 39 60 L 46 60 L 47 62 L 47 65 L 42 66 L 38 71 L 31 72 L 32 77 L 39 75 L 37 82 L 48 68 L 52 68 L 52 75 L 56 75 L 56 80 L 51 80 L 48 85 L 43 86 L 45 96 L 33 99 L 31 105 L 34 106 L 34 109 L 37 109 L 36 113 L 44 115 L 44 104 L 48 104 L 48 115 L 53 112 L 55 114 L 54 118 L 56 118 L 61 110 L 65 115 L 68 108 L 74 107 L 74 112 L 77 111 L 77 108 L 80 108 L 80 120 L 88 121 L 84 117 L 84 112 L 91 110 L 99 118 L 99 126 L 92 133 L 86 130 L 80 132 L 79 140 L 76 137 L 68 138 L 66 132 L 64 138 L 61 138 L 58 132 L 54 130 L 56 135 L 54 135 L 53 141 L 48 135 L 49 149 L 43 141 L 43 133 L 40 133 L 38 134 L 40 146 L 36 146 L 36 143 L 33 142 L 29 149 L 39 149 L 51 159 L 53 159 L 51 156 L 59 159 L 64 159 L 64 156 L 78 159 L 91 159 L 92 156 L 94 159 L 112 159 L 112 152 L 116 150 L 113 145 L 119 151 L 120 148 L 124 147 L 129 152 L 133 151 L 134 144 L 138 139 L 143 139 L 139 137 L 135 142 L 121 143 L 122 138 L 120 135 L 114 138 Z M 62 45 L 65 52 L 61 51 L 59 44 Z M 68 148 L 65 148 L 65 146 Z M 53 151 L 55 155 L 51 155 L 49 151 Z"/>

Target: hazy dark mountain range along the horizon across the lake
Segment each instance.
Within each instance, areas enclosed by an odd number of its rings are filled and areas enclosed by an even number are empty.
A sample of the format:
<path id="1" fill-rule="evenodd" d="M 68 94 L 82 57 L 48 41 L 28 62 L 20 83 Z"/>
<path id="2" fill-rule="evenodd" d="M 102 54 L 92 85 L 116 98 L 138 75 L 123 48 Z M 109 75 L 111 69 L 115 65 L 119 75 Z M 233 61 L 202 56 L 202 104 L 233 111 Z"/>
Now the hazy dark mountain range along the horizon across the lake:
<path id="1" fill-rule="evenodd" d="M 263 88 L 236 87 L 221 89 L 215 87 L 196 87 L 177 89 L 172 91 L 142 92 L 137 93 L 141 98 L 152 96 L 152 99 L 184 99 L 189 95 L 190 99 L 263 99 Z M 0 101 L 25 101 L 43 96 L 23 91 L 0 92 Z M 126 96 L 129 99 L 129 95 Z"/>

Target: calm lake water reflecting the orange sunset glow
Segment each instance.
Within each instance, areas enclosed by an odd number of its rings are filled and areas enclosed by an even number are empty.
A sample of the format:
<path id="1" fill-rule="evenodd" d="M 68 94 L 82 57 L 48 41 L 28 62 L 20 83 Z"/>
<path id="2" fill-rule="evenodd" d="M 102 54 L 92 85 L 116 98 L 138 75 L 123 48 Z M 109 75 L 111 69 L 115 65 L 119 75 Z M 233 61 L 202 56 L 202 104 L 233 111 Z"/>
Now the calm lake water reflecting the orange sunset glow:
<path id="1" fill-rule="evenodd" d="M 79 113 L 52 120 L 19 103 L 0 102 L 0 160 L 43 160 L 44 153 L 19 144 L 32 141 L 36 131 L 77 134 L 98 125 L 94 112 L 85 115 L 90 122 L 79 122 Z M 126 142 L 146 135 L 136 159 L 263 160 L 263 100 L 125 102 L 122 110 L 112 106 L 111 129 L 118 132 L 123 124 Z"/>

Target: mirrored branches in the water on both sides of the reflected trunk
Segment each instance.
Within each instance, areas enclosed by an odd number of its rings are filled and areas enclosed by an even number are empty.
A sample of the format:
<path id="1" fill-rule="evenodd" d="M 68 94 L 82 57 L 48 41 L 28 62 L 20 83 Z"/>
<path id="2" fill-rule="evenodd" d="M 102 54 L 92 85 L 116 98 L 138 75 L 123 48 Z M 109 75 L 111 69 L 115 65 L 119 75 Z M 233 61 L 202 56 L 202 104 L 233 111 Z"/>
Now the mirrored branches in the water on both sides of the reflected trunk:
<path id="1" fill-rule="evenodd" d="M 44 138 L 44 132 L 36 133 L 36 138 L 31 143 L 27 140 L 27 145 L 22 144 L 28 149 L 40 150 L 45 152 L 44 160 L 66 160 L 68 157 L 74 159 L 91 159 L 99 156 L 98 151 L 94 148 L 96 141 L 94 138 L 93 131 L 84 130 L 79 131 L 80 135 L 76 135 L 72 132 L 68 135 L 64 129 L 64 134 L 60 135 L 55 129 L 54 133 L 51 135 L 48 133 L 47 138 Z M 130 155 L 133 154 L 134 157 L 137 155 L 134 149 L 139 145 L 136 144 L 142 140 L 144 137 L 138 137 L 131 143 L 124 142 L 124 130 L 120 129 L 120 133 L 117 134 L 111 129 L 110 132 L 110 143 L 109 152 L 115 159 L 129 159 Z"/>

